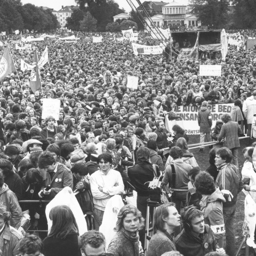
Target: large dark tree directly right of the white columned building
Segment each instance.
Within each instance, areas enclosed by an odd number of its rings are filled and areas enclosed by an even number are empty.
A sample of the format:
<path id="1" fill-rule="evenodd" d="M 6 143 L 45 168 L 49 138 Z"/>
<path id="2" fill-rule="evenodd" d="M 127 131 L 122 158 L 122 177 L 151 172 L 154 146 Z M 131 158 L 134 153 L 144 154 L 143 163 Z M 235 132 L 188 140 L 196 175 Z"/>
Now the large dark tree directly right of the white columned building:
<path id="1" fill-rule="evenodd" d="M 229 0 L 191 0 L 193 13 L 201 20 L 202 25 L 214 25 L 222 29 L 227 22 Z"/>

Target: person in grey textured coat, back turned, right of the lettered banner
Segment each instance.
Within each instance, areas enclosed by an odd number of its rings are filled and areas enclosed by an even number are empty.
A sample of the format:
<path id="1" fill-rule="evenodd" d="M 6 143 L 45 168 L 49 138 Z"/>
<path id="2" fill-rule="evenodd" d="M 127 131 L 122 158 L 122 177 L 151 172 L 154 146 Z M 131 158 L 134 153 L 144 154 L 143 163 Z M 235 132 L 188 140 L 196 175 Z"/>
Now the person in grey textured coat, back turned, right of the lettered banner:
<path id="1" fill-rule="evenodd" d="M 255 92 L 256 93 L 256 92 Z M 221 142 L 222 138 L 225 138 L 224 146 L 231 150 L 233 155 L 233 165 L 238 168 L 238 147 L 240 147 L 240 142 L 238 135 L 243 135 L 241 128 L 237 122 L 231 121 L 230 114 L 223 114 L 221 117 L 223 125 L 221 127 L 221 132 L 218 136 L 218 143 Z"/>

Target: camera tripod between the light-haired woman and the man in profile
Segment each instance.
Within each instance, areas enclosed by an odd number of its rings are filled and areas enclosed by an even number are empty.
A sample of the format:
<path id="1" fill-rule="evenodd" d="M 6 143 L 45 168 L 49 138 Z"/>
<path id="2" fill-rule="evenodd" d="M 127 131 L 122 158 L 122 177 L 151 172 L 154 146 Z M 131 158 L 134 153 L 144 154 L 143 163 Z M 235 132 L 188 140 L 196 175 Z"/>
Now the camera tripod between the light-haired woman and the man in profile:
<path id="1" fill-rule="evenodd" d="M 146 229 L 145 229 L 145 243 L 144 243 L 144 249 L 147 250 L 147 247 L 149 247 L 149 241 L 153 235 L 153 216 L 155 214 L 155 208 L 161 205 L 157 201 L 151 201 L 150 199 L 147 199 L 147 215 L 146 215 Z M 150 208 L 151 207 L 151 208 Z M 153 214 L 150 216 L 150 209 L 153 207 Z M 151 218 L 150 218 L 151 217 Z"/>

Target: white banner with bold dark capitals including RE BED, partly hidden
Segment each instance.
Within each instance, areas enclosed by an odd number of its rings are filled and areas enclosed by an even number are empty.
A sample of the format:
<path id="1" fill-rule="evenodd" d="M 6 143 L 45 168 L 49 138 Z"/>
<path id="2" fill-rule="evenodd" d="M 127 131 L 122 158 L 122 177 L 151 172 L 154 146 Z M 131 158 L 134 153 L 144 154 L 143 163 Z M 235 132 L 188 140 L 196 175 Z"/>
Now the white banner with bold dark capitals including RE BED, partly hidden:
<path id="1" fill-rule="evenodd" d="M 218 119 L 221 119 L 223 114 L 231 113 L 232 106 L 234 106 L 234 103 L 208 105 L 208 109 L 211 111 L 211 118 L 213 120 L 212 127 L 215 126 L 215 123 Z M 173 127 L 174 125 L 179 125 L 186 131 L 187 135 L 200 134 L 199 132 L 200 127 L 198 125 L 199 110 L 200 109 L 198 106 L 193 106 L 193 105 L 177 106 L 174 112 L 175 114 L 178 114 L 181 118 L 171 121 L 171 123 L 169 123 L 169 129 L 171 129 L 171 127 Z"/>

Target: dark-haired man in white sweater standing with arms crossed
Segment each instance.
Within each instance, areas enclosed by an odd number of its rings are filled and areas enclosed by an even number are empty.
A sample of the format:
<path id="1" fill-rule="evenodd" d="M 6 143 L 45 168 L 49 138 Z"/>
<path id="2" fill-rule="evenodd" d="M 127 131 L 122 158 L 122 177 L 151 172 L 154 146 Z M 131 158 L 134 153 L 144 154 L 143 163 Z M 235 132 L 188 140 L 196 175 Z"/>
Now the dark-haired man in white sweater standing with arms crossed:
<path id="1" fill-rule="evenodd" d="M 94 202 L 94 229 L 99 230 L 107 202 L 113 195 L 121 195 L 125 186 L 119 171 L 111 169 L 112 157 L 108 153 L 99 155 L 99 170 L 91 174 L 90 185 Z"/>

